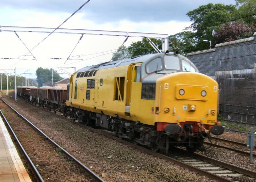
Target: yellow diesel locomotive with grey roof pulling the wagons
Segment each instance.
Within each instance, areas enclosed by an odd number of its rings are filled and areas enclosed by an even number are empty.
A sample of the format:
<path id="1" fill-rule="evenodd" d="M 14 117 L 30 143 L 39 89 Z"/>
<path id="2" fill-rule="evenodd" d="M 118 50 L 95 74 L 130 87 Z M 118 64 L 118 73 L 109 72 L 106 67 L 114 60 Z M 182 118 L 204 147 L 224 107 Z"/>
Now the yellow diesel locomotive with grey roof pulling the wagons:
<path id="1" fill-rule="evenodd" d="M 65 116 L 168 152 L 172 146 L 203 149 L 221 135 L 218 84 L 186 57 L 165 53 L 87 66 L 73 73 Z"/>

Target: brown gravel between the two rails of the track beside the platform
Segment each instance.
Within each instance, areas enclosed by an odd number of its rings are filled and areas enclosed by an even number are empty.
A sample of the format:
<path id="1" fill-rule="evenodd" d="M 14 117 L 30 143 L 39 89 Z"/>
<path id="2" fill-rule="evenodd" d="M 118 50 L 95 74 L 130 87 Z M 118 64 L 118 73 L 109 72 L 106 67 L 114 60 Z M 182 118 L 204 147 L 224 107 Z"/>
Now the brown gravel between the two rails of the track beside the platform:
<path id="1" fill-rule="evenodd" d="M 44 181 L 92 181 L 50 141 L 0 101 L 0 109 Z M 35 179 L 32 177 L 32 180 Z"/>

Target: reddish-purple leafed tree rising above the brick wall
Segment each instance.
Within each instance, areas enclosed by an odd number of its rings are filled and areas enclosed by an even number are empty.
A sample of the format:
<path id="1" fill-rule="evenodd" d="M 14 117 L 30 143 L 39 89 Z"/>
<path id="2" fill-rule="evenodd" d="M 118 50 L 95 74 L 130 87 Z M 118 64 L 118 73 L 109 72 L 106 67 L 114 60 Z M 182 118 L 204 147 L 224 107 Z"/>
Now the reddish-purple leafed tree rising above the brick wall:
<path id="1" fill-rule="evenodd" d="M 251 37 L 256 27 L 248 27 L 244 23 L 225 24 L 220 27 L 219 32 L 214 33 L 215 44 Z"/>

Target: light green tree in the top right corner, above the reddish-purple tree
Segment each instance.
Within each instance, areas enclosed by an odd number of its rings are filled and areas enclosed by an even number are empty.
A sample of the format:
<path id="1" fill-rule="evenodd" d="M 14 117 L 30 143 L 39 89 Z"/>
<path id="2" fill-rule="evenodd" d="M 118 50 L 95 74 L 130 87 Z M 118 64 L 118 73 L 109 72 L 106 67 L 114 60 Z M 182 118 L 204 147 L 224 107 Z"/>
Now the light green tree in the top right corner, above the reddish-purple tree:
<path id="1" fill-rule="evenodd" d="M 256 0 L 236 0 L 236 7 L 238 8 L 238 13 L 240 17 L 256 13 Z M 243 18 L 243 21 L 247 26 L 256 25 L 256 16 L 249 16 Z"/>

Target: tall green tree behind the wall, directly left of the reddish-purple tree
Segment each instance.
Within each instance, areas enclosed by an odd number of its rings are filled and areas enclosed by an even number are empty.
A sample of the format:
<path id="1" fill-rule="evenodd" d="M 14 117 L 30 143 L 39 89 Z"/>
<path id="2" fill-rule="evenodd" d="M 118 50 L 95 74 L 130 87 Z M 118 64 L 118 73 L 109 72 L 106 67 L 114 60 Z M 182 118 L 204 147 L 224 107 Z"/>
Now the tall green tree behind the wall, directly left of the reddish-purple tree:
<path id="1" fill-rule="evenodd" d="M 186 30 L 196 30 L 192 33 L 195 40 L 196 50 L 209 48 L 207 42 L 212 40 L 212 35 L 218 32 L 221 25 L 216 25 L 236 17 L 236 6 L 225 4 L 206 4 L 187 13 L 192 24 Z M 215 25 L 215 26 L 212 26 Z M 213 42 L 214 43 L 214 42 Z M 188 51 L 193 51 L 194 47 Z"/>

